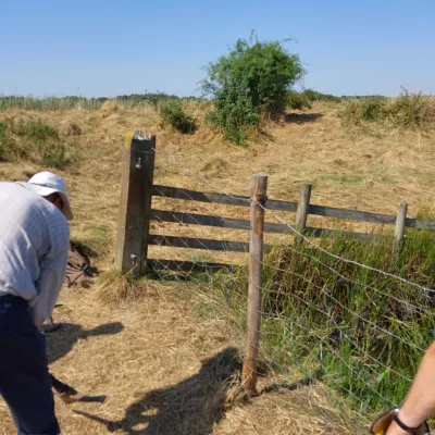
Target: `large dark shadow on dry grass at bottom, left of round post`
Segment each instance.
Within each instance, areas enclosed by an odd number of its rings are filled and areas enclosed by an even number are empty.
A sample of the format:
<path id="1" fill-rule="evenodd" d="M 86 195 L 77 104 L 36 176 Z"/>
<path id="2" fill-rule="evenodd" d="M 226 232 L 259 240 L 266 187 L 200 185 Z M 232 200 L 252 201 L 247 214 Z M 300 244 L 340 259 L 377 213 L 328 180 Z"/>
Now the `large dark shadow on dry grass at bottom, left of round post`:
<path id="1" fill-rule="evenodd" d="M 126 409 L 121 421 L 75 412 L 110 432 L 128 435 L 208 435 L 224 415 L 227 393 L 240 370 L 237 349 L 228 347 L 202 361 L 199 372 L 179 384 L 145 394 Z"/>

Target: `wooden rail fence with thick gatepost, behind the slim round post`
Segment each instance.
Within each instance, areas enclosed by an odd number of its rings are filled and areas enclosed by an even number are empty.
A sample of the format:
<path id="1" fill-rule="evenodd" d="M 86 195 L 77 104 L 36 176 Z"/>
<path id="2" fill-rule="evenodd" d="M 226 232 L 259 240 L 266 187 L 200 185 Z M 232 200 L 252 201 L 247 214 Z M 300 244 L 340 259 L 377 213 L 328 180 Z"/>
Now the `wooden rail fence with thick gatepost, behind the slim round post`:
<path id="1" fill-rule="evenodd" d="M 200 201 L 235 207 L 251 207 L 251 198 L 224 192 L 203 192 L 179 187 L 153 184 L 156 137 L 146 136 L 140 132 L 127 137 L 124 148 L 124 165 L 122 174 L 122 195 L 119 214 L 119 233 L 115 250 L 115 265 L 123 272 L 133 270 L 141 274 L 150 269 L 196 271 L 202 270 L 197 263 L 178 264 L 173 260 L 148 259 L 148 246 L 165 246 L 173 248 L 207 249 L 213 251 L 248 252 L 249 244 L 234 240 L 215 240 L 207 238 L 176 237 L 150 234 L 150 221 L 172 222 L 186 225 L 202 225 L 238 231 L 249 231 L 252 224 L 249 220 L 224 217 L 212 214 L 198 214 L 158 210 L 151 207 L 152 197 L 164 197 L 185 201 Z M 299 202 L 266 199 L 264 207 L 268 211 L 284 211 L 296 213 L 296 223 L 291 227 L 285 223 L 266 222 L 264 233 L 291 235 L 293 227 L 309 237 L 355 237 L 368 239 L 386 237 L 383 235 L 345 232 L 334 228 L 307 226 L 309 215 L 334 217 L 346 221 L 359 221 L 383 225 L 395 225 L 395 247 L 399 252 L 406 228 L 435 231 L 435 221 L 423 221 L 407 217 L 407 204 L 402 203 L 397 215 L 371 213 L 358 210 L 346 210 L 310 203 L 311 185 L 303 185 Z M 302 237 L 295 234 L 295 241 Z M 270 246 L 265 249 L 269 251 Z M 204 263 L 206 264 L 206 263 Z M 206 264 L 206 269 L 214 268 Z M 163 266 L 164 265 L 164 266 Z"/>

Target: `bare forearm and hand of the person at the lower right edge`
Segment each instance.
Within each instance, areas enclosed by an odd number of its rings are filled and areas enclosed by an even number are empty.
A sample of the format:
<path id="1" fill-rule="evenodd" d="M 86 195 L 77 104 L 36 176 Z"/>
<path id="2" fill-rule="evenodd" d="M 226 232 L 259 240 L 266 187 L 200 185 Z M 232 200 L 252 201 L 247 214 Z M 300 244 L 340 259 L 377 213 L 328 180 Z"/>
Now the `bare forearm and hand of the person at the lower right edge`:
<path id="1" fill-rule="evenodd" d="M 398 418 L 408 427 L 418 427 L 435 412 L 435 343 L 426 350 Z M 393 422 L 386 435 L 409 435 Z"/>

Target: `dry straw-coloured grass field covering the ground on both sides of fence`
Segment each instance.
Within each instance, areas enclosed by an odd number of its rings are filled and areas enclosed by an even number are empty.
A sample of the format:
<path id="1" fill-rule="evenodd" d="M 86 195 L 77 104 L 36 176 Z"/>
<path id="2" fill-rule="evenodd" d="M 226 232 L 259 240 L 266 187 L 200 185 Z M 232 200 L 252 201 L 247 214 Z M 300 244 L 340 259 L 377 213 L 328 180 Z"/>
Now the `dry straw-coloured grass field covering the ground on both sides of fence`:
<path id="1" fill-rule="evenodd" d="M 157 184 L 248 195 L 252 173 L 265 172 L 268 195 L 273 199 L 297 200 L 299 186 L 309 182 L 313 184 L 311 202 L 323 206 L 391 214 L 406 200 L 411 216 L 434 206 L 433 133 L 375 124 L 345 128 L 338 104 L 315 103 L 308 112 L 295 111 L 285 121 L 270 124 L 257 140 L 240 148 L 222 142 L 219 133 L 203 122 L 200 103 L 186 102 L 186 107 L 200 120 L 194 135 L 165 126 L 152 107 L 132 110 L 113 101 L 100 110 L 9 110 L 0 113 L 0 120 L 40 119 L 74 141 L 77 163 L 58 172 L 65 177 L 72 199 L 73 239 L 87 247 L 100 271 L 112 264 L 124 136 L 137 129 L 157 135 Z M 0 162 L 0 179 L 25 181 L 40 170 L 28 161 Z M 164 199 L 157 199 L 154 206 L 239 217 L 249 213 Z M 311 216 L 309 224 L 338 225 Z M 224 229 L 211 233 L 160 223 L 152 223 L 152 232 L 235 237 Z M 237 235 L 247 237 L 241 232 Z M 274 241 L 273 237 L 266 241 Z M 182 249 L 169 252 L 164 248 L 151 249 L 151 256 L 189 258 Z M 213 253 L 213 260 L 227 259 L 227 254 Z M 63 326 L 47 336 L 53 374 L 80 391 L 109 396 L 103 405 L 66 407 L 57 401 L 64 434 L 364 433 L 358 419 L 337 410 L 322 385 L 291 387 L 300 381 L 297 376 L 283 380 L 270 372 L 260 386 L 285 381 L 287 388 L 243 400 L 237 389 L 243 336 L 221 313 L 199 311 L 201 297 L 183 284 L 140 281 L 136 284 L 140 291 L 135 291 L 140 297 L 117 303 L 101 297 L 102 284 L 97 278 L 87 288 L 64 289 L 65 306 L 54 313 Z M 0 421 L 1 435 L 14 432 L 3 402 Z"/>

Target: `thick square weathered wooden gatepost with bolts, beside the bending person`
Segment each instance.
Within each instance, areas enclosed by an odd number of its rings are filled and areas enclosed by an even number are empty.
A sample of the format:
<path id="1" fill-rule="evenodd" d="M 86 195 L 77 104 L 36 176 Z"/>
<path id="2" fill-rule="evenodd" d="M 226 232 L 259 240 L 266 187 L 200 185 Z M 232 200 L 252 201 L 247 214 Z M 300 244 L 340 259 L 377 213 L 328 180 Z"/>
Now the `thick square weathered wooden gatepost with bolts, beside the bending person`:
<path id="1" fill-rule="evenodd" d="M 136 276 L 147 261 L 154 149 L 156 136 L 136 132 L 125 138 L 114 265 Z"/>

